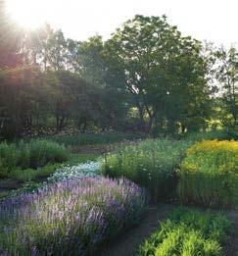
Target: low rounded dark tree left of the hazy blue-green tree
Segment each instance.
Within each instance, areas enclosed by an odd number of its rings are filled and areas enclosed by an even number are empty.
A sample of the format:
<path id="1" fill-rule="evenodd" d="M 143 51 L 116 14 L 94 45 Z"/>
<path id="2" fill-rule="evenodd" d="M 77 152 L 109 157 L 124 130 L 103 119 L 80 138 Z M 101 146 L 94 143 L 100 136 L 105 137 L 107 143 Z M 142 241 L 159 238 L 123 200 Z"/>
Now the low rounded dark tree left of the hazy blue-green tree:
<path id="1" fill-rule="evenodd" d="M 90 85 L 70 71 L 48 71 L 44 74 L 47 86 L 49 111 L 56 120 L 56 129 L 61 131 L 73 120 L 78 128 L 92 119 Z"/>

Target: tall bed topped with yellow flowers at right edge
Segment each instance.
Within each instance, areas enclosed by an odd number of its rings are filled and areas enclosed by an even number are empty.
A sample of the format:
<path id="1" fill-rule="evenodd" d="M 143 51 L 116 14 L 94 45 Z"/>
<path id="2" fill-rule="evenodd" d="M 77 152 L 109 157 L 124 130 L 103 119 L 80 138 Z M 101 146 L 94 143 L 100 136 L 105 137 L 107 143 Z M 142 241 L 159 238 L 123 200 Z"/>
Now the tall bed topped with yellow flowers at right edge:
<path id="1" fill-rule="evenodd" d="M 219 207 L 237 204 L 238 142 L 210 140 L 194 144 L 178 174 L 182 202 Z"/>

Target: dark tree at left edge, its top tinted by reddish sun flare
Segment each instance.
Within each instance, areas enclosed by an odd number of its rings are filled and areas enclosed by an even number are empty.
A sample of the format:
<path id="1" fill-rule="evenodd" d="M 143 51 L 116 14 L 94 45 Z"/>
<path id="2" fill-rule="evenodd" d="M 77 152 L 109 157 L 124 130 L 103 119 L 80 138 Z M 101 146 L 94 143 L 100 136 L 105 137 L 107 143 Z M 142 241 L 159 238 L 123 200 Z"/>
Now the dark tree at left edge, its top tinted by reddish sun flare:
<path id="1" fill-rule="evenodd" d="M 40 72 L 30 66 L 0 71 L 0 102 L 3 135 L 31 128 L 36 114 Z"/>

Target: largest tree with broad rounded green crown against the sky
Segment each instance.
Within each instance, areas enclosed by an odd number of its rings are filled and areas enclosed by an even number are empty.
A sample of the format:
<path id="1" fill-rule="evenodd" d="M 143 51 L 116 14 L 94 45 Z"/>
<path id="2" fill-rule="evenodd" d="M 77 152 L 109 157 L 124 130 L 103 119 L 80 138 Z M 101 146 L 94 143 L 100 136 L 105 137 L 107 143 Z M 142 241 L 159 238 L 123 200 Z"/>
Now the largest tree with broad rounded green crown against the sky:
<path id="1" fill-rule="evenodd" d="M 178 122 L 183 129 L 195 128 L 190 120 L 196 117 L 196 128 L 201 127 L 209 91 L 199 41 L 182 37 L 165 16 L 135 16 L 108 44 L 147 132 L 173 130 Z"/>

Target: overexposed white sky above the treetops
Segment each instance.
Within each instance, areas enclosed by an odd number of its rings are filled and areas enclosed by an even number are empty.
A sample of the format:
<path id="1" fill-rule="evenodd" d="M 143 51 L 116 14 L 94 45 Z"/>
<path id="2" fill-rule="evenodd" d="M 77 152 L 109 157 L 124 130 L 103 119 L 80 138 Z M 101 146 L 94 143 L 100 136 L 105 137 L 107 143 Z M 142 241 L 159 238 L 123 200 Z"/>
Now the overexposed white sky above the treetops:
<path id="1" fill-rule="evenodd" d="M 1 0 L 0 0 L 1 1 Z M 184 35 L 215 44 L 238 44 L 238 0 L 6 0 L 22 26 L 47 21 L 67 37 L 84 40 L 100 34 L 108 38 L 136 14 L 167 15 L 169 24 Z"/>

